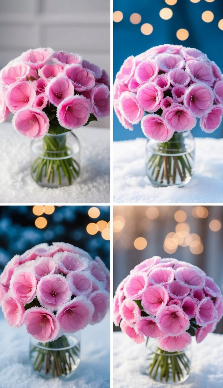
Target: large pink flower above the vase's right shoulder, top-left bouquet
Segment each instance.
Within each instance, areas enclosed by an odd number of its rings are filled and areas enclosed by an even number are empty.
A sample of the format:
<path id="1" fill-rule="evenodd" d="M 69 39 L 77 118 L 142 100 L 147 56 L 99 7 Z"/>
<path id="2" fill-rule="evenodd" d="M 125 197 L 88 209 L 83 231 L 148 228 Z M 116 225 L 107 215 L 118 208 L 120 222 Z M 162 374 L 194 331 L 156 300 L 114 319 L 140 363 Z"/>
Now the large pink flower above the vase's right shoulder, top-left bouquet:
<path id="1" fill-rule="evenodd" d="M 87 123 L 90 115 L 88 100 L 81 95 L 67 97 L 57 107 L 57 118 L 61 126 L 76 129 Z"/>

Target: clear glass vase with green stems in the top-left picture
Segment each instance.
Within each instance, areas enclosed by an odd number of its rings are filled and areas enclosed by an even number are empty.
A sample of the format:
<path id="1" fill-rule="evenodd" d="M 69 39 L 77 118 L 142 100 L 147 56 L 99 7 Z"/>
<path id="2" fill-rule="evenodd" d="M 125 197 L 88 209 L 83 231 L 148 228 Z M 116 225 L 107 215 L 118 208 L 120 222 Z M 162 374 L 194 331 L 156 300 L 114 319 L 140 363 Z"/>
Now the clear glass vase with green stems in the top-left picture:
<path id="1" fill-rule="evenodd" d="M 72 132 L 31 142 L 31 175 L 42 187 L 69 186 L 80 173 L 80 143 Z"/>

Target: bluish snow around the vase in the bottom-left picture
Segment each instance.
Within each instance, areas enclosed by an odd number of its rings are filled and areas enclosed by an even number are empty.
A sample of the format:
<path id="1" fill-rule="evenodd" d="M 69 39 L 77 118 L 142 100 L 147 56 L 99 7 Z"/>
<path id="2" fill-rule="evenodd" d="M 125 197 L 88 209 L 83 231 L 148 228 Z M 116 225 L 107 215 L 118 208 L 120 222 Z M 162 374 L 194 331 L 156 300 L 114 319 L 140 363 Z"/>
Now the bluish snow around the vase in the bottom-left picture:
<path id="1" fill-rule="evenodd" d="M 29 335 L 10 327 L 0 308 L 0 388 L 109 388 L 110 319 L 81 331 L 81 362 L 68 379 L 43 379 L 29 364 Z"/>

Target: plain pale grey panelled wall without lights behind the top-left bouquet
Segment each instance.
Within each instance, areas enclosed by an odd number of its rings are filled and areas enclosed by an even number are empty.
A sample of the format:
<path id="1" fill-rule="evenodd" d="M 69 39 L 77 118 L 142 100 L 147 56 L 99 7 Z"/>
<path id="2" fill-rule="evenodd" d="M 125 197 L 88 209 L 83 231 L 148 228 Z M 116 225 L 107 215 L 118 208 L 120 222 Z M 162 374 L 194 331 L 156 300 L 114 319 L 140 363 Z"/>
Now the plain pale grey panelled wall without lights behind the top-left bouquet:
<path id="1" fill-rule="evenodd" d="M 0 68 L 38 47 L 78 53 L 110 73 L 110 2 L 0 1 Z M 109 128 L 110 120 L 90 125 Z"/>

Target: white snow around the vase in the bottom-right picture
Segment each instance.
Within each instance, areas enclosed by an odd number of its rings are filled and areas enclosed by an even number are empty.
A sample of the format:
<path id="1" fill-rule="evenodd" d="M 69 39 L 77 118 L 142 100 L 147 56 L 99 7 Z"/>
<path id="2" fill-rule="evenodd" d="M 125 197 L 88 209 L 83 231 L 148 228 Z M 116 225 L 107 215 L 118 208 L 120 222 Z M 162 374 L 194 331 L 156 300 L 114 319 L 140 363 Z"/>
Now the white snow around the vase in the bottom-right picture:
<path id="1" fill-rule="evenodd" d="M 194 340 L 194 338 L 192 338 Z M 113 333 L 114 388 L 169 388 L 145 373 L 145 343 L 136 344 L 124 333 Z M 192 341 L 192 365 L 189 378 L 180 388 L 223 387 L 223 335 L 208 334 L 197 344 Z"/>

